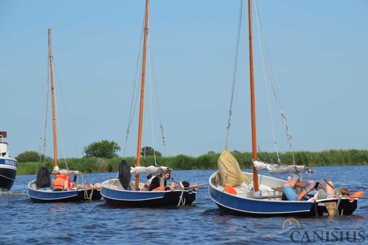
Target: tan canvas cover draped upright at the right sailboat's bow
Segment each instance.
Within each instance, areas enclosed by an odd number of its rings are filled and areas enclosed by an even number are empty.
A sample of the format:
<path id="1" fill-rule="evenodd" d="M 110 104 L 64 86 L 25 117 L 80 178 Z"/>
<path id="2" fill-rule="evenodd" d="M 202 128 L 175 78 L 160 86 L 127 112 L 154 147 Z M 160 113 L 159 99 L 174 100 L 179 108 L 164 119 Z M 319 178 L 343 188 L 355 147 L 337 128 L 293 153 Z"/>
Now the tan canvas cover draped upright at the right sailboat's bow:
<path id="1" fill-rule="evenodd" d="M 237 186 L 248 179 L 245 173 L 241 172 L 237 159 L 227 149 L 221 153 L 217 165 L 223 185 Z"/>

